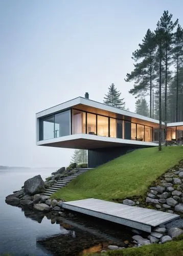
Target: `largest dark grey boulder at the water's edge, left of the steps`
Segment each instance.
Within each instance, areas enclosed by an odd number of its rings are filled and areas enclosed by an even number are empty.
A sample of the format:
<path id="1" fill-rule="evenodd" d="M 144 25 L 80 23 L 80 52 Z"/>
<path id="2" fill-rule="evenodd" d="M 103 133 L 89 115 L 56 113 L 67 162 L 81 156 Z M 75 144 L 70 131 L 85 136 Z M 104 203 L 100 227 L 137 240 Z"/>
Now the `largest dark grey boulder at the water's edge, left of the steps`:
<path id="1" fill-rule="evenodd" d="M 27 195 L 35 195 L 42 193 L 45 190 L 44 182 L 40 175 L 28 179 L 24 183 L 24 190 Z"/>

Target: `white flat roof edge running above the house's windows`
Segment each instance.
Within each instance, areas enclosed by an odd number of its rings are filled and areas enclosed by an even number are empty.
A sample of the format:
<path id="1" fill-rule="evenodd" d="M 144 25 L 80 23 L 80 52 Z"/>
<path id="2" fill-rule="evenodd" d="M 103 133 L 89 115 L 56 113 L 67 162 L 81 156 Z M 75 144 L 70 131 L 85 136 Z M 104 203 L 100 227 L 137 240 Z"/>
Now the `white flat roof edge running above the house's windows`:
<path id="1" fill-rule="evenodd" d="M 153 123 L 159 123 L 159 121 L 156 120 L 156 119 L 153 119 L 153 118 L 150 118 L 150 117 L 145 117 L 145 116 L 142 116 L 142 115 L 139 115 L 139 114 L 127 111 L 127 110 L 121 110 L 121 109 L 115 108 L 113 106 L 109 106 L 109 105 L 106 105 L 104 103 L 100 103 L 100 102 L 90 100 L 90 99 L 86 99 L 86 98 L 83 98 L 83 97 L 78 97 L 78 98 L 63 102 L 59 105 L 53 106 L 50 109 L 46 109 L 46 110 L 43 110 L 41 112 L 38 112 L 36 114 L 36 118 L 51 115 L 53 113 L 62 111 L 64 109 L 70 109 L 73 106 L 78 105 L 78 104 L 91 106 L 91 107 L 96 108 L 96 109 L 101 109 L 101 110 L 109 111 L 109 112 L 120 114 L 120 115 L 125 115 L 125 116 L 129 116 L 129 117 L 133 117 L 133 118 L 138 118 L 138 119 L 146 120 L 146 121 L 153 122 Z M 164 124 L 164 122 L 162 122 L 162 124 Z"/>

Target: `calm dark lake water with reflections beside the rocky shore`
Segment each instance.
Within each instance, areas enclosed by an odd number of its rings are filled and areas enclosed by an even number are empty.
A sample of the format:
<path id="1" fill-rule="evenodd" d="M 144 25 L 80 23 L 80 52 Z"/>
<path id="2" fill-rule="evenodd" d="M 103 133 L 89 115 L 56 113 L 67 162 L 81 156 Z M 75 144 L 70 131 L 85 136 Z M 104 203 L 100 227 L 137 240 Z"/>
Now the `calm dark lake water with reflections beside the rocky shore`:
<path id="1" fill-rule="evenodd" d="M 84 255 L 108 244 L 123 246 L 124 240 L 130 240 L 130 231 L 121 225 L 79 214 L 66 213 L 64 218 L 44 216 L 5 203 L 5 197 L 19 190 L 27 179 L 40 174 L 45 180 L 54 171 L 48 168 L 0 170 L 0 255 Z M 40 238 L 47 240 L 36 242 Z"/>

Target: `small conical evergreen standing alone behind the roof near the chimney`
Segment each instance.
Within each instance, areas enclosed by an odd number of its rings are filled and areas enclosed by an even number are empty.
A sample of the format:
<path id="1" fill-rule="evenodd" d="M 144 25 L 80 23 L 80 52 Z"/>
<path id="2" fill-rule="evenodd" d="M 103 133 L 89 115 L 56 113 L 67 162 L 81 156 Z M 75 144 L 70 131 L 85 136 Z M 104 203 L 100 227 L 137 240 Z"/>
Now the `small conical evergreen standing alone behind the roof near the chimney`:
<path id="1" fill-rule="evenodd" d="M 121 92 L 117 90 L 115 84 L 111 83 L 108 87 L 108 93 L 105 94 L 104 103 L 119 109 L 125 109 L 124 98 L 120 99 L 120 96 Z"/>

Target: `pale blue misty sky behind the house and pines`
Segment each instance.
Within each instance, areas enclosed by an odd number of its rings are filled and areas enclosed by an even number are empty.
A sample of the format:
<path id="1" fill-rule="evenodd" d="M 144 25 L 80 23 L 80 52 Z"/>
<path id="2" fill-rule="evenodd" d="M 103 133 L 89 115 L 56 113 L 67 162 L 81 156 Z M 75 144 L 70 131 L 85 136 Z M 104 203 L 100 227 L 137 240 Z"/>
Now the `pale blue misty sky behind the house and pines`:
<path id="1" fill-rule="evenodd" d="M 36 146 L 35 113 L 84 96 L 103 101 L 164 10 L 183 26 L 181 0 L 0 0 L 0 165 L 64 166 L 73 150 Z"/>

